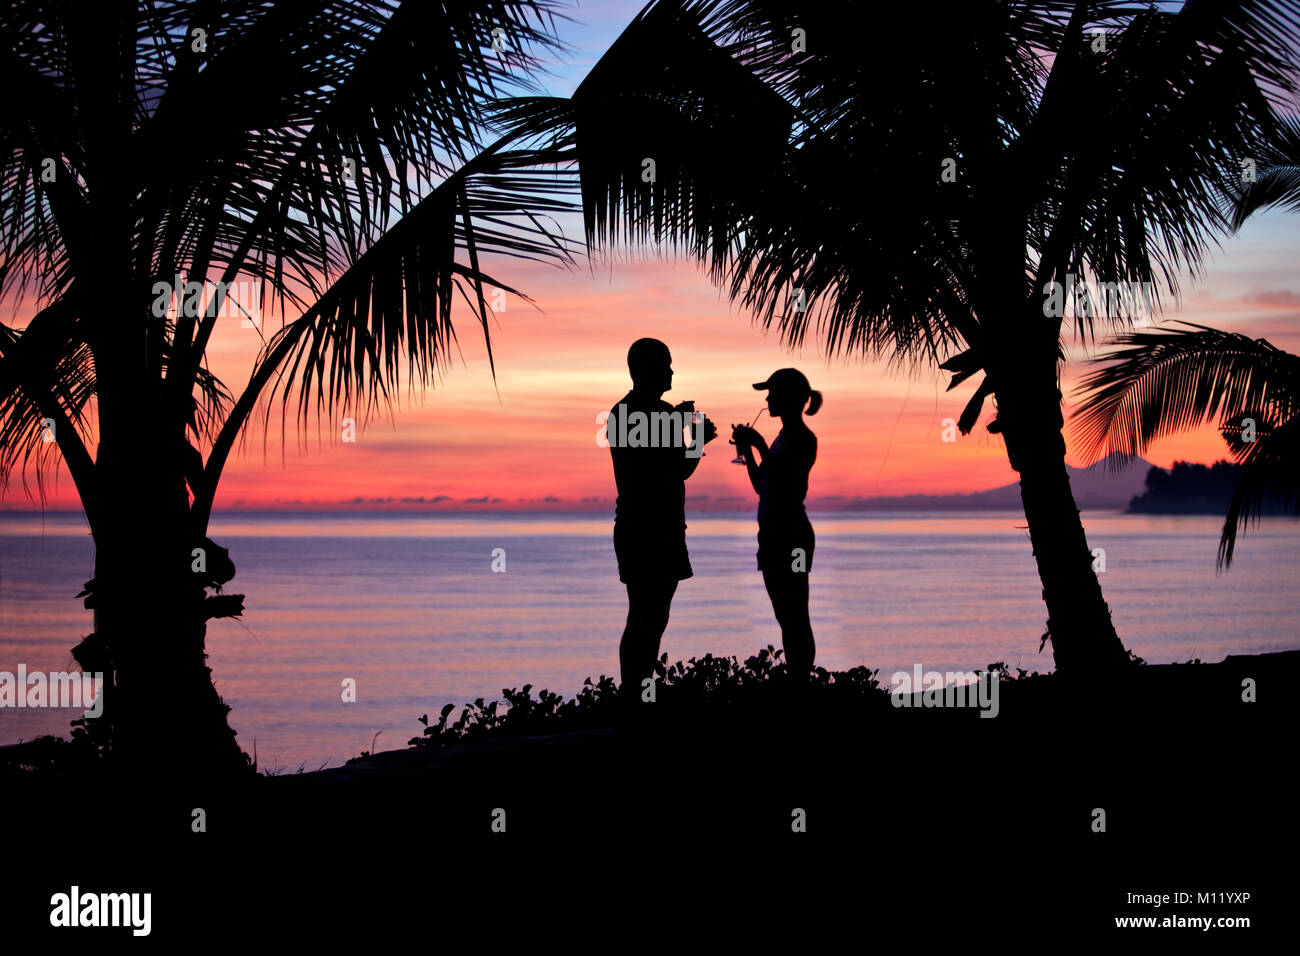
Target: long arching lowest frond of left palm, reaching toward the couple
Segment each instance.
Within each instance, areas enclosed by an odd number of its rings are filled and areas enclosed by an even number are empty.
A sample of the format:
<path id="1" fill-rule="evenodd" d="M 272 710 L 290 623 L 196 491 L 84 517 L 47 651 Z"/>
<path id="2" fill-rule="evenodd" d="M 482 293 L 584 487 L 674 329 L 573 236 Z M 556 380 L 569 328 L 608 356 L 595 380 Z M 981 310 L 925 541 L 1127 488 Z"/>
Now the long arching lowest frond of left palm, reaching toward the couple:
<path id="1" fill-rule="evenodd" d="M 391 407 L 407 363 L 408 388 L 428 385 L 455 343 L 451 306 L 459 294 L 484 329 L 485 289 L 532 299 L 488 272 L 486 259 L 573 263 L 576 243 L 541 220 L 575 209 L 572 164 L 540 169 L 550 152 L 504 150 L 499 140 L 448 177 L 377 241 L 298 319 L 264 346 L 247 388 L 213 442 L 194 511 L 207 520 L 225 462 L 263 397 L 266 415 L 278 393 L 283 408 L 298 394 L 298 420 Z M 560 156 L 560 160 L 564 157 Z M 458 260 L 467 252 L 469 264 Z M 269 390 L 268 390 L 269 386 Z"/>

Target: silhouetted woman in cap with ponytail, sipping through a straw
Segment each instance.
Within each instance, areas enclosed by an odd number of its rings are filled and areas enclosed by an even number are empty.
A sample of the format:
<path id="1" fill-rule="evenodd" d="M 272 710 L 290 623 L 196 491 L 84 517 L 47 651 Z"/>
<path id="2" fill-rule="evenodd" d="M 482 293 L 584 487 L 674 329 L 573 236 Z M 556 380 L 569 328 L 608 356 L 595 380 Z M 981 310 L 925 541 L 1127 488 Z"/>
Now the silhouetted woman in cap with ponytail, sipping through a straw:
<path id="1" fill-rule="evenodd" d="M 812 671 L 812 624 L 809 620 L 809 571 L 815 537 L 803 509 L 809 472 L 816 460 L 816 436 L 803 423 L 803 406 L 815 415 L 822 393 L 797 368 L 774 372 L 755 389 L 767 389 L 767 410 L 781 420 L 771 447 L 749 425 L 732 425 L 732 441 L 745 457 L 749 480 L 758 492 L 758 570 L 781 626 L 781 645 L 792 676 Z M 762 462 L 755 459 L 755 451 Z"/>

